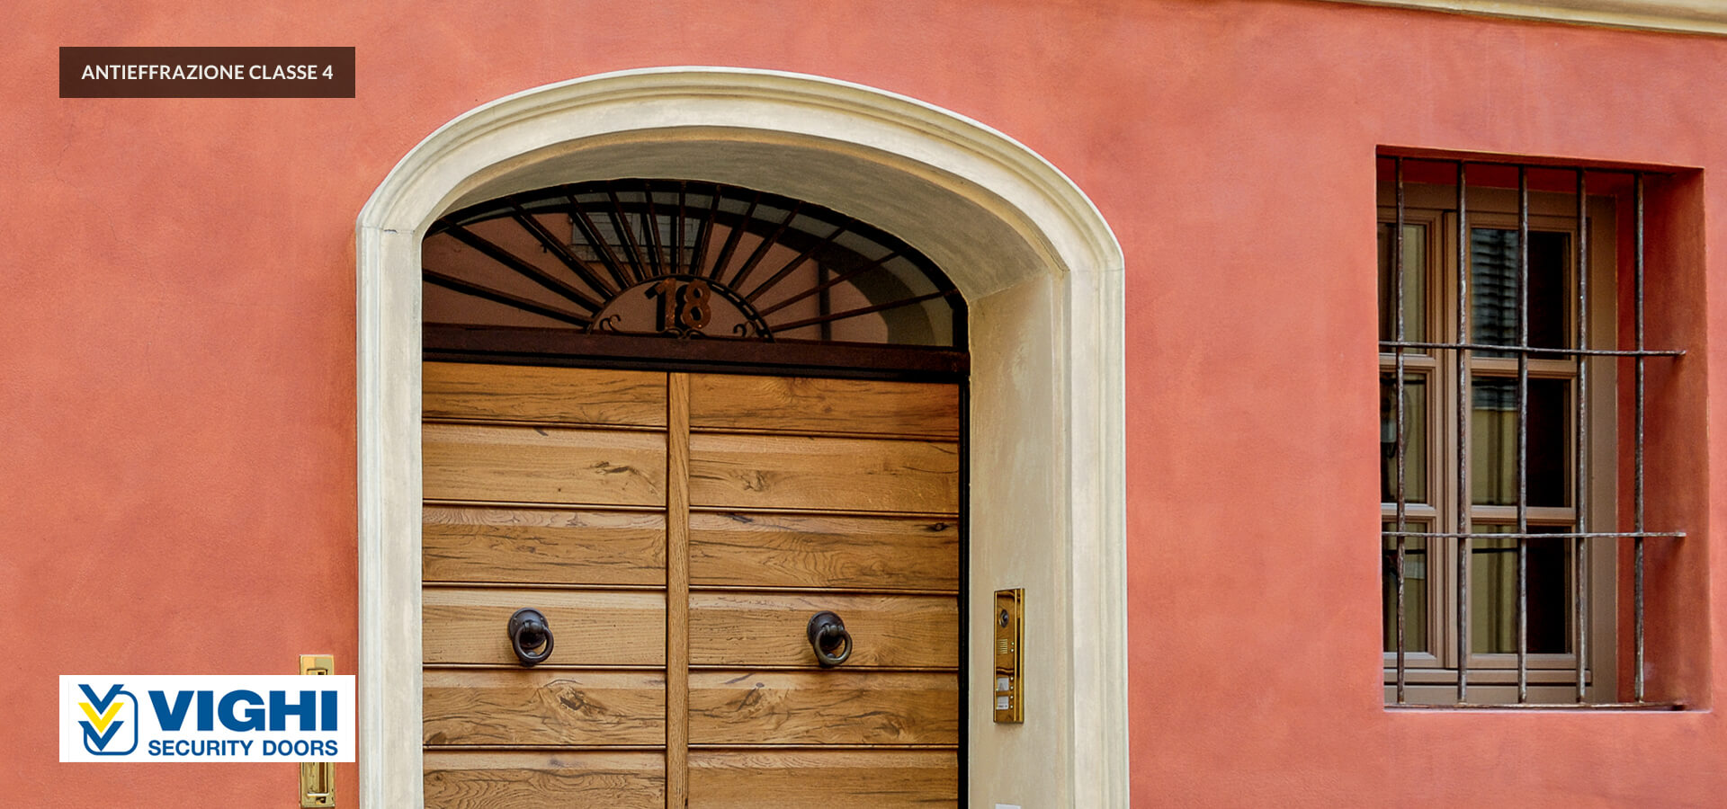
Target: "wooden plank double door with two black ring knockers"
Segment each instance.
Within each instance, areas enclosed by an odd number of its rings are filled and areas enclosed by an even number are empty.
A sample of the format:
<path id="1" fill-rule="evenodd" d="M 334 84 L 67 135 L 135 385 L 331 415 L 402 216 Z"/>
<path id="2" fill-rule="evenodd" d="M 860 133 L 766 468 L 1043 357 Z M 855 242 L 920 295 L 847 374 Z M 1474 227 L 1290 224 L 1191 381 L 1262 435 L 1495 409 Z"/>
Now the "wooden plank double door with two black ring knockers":
<path id="1" fill-rule="evenodd" d="M 957 385 L 428 362 L 423 402 L 427 806 L 957 802 Z"/>

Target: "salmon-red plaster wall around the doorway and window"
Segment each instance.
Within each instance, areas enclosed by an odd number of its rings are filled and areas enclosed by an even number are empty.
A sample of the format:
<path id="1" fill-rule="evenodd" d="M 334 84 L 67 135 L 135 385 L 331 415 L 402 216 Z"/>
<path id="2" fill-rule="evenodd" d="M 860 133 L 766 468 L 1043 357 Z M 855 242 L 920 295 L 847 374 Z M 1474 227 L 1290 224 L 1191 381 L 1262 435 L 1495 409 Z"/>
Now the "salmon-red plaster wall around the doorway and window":
<path id="1" fill-rule="evenodd" d="M 0 34 L 0 795 L 292 806 L 290 764 L 59 764 L 60 673 L 356 661 L 352 223 L 487 100 L 713 64 L 858 81 L 1066 171 L 1128 257 L 1136 806 L 1708 806 L 1711 712 L 1387 712 L 1380 700 L 1376 147 L 1701 167 L 1672 191 L 1698 424 L 1727 402 L 1727 40 L 1302 0 L 805 0 L 9 9 Z M 62 45 L 354 45 L 352 100 L 60 100 Z M 1699 267 L 1698 262 L 1703 262 Z M 1699 274 L 1706 269 L 1706 278 Z M 1706 388 L 1705 388 L 1706 385 Z M 1708 393 L 1705 397 L 1705 392 Z M 1720 436 L 1661 519 L 1696 535 Z M 1684 471 L 1684 474 L 1677 474 Z M 1710 505 L 1715 504 L 1715 505 Z M 1705 512 L 1703 509 L 1708 509 Z M 1661 568 L 1667 569 L 1667 568 Z M 1653 630 L 1722 690 L 1718 573 Z M 1708 609 L 1705 600 L 1713 602 Z M 1672 611 L 1658 611 L 1670 616 Z M 1708 621 L 1708 623 L 1705 623 Z M 342 768 L 344 806 L 356 795 Z"/>

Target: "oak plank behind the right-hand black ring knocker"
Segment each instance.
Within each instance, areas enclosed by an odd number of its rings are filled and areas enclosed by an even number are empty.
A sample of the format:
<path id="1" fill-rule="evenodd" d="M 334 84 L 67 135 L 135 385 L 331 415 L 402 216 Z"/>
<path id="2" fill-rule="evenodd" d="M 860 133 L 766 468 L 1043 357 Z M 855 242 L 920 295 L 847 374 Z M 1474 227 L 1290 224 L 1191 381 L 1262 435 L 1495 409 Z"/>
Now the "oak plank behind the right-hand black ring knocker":
<path id="1" fill-rule="evenodd" d="M 824 609 L 851 633 L 848 669 L 958 666 L 955 597 L 715 592 L 689 593 L 689 662 L 815 668 L 807 631 Z"/>

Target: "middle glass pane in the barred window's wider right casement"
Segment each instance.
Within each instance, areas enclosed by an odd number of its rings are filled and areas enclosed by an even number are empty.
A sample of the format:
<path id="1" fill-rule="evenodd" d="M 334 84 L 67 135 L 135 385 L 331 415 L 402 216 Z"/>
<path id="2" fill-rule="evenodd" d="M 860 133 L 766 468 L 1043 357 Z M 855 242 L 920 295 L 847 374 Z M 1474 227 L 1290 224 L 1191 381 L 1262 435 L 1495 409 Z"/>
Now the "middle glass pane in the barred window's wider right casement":
<path id="1" fill-rule="evenodd" d="M 1528 381 L 1530 505 L 1570 502 L 1570 379 Z M 1470 488 L 1475 504 L 1516 505 L 1516 379 L 1477 376 L 1470 395 L 1475 402 L 1470 414 Z"/>

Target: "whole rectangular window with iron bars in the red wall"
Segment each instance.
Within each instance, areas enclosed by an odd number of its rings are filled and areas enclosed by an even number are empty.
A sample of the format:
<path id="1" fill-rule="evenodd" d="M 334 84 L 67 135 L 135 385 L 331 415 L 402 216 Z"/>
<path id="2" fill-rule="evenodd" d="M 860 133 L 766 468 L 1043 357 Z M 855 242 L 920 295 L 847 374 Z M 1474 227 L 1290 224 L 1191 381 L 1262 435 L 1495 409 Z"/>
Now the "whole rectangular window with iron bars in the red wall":
<path id="1" fill-rule="evenodd" d="M 1660 707 L 1644 555 L 1684 535 L 1646 524 L 1644 388 L 1682 352 L 1644 345 L 1649 176 L 1378 162 L 1385 702 Z"/>

